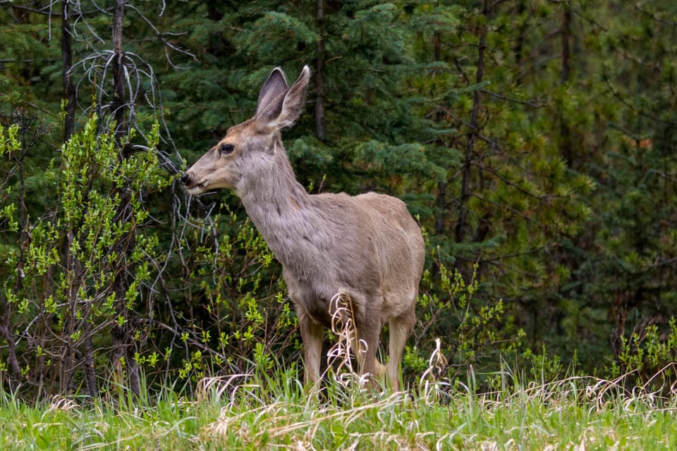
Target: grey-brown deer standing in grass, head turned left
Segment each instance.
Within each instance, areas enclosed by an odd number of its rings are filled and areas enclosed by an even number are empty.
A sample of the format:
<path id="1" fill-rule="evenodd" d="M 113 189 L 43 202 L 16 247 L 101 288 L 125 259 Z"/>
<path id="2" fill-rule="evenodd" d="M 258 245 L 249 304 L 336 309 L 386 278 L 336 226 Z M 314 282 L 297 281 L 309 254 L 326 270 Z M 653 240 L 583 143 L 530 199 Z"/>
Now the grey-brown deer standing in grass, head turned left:
<path id="1" fill-rule="evenodd" d="M 190 195 L 233 190 L 282 266 L 303 342 L 306 388 L 321 382 L 324 328 L 346 299 L 341 321 L 355 328 L 358 373 L 375 385 L 386 377 L 400 390 L 405 342 L 415 326 L 415 304 L 425 260 L 421 228 L 405 203 L 376 192 L 308 193 L 296 179 L 281 129 L 293 125 L 305 101 L 310 69 L 291 87 L 281 68 L 262 85 L 255 115 L 226 136 L 181 176 Z M 346 311 L 348 314 L 346 314 Z M 377 348 L 389 326 L 389 359 Z"/>

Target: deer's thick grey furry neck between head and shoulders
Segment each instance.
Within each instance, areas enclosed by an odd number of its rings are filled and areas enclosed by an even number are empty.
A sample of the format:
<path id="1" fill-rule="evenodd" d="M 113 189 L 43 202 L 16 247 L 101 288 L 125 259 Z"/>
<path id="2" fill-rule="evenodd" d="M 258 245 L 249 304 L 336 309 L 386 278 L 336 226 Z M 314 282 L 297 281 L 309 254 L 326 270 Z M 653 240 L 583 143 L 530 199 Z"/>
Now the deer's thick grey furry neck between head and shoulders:
<path id="1" fill-rule="evenodd" d="M 303 241 L 315 235 L 322 218 L 314 214 L 312 196 L 296 180 L 286 153 L 279 144 L 269 164 L 238 190 L 252 223 L 283 266 L 293 271 Z"/>

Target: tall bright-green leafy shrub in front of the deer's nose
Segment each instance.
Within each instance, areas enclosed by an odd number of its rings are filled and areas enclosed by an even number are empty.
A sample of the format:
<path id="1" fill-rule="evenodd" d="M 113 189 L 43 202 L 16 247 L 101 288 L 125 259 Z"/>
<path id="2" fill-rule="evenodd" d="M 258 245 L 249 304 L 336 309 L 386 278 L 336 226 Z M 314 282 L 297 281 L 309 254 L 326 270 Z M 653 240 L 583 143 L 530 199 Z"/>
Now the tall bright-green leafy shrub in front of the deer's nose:
<path id="1" fill-rule="evenodd" d="M 171 183 L 159 170 L 158 128 L 132 145 L 134 133 L 118 142 L 91 118 L 39 180 L 23 177 L 30 156 L 16 158 L 19 132 L 0 129 L 3 385 L 93 395 L 124 379 L 138 389 L 140 307 L 163 259 L 145 197 Z M 135 149 L 128 158 L 124 146 Z"/>

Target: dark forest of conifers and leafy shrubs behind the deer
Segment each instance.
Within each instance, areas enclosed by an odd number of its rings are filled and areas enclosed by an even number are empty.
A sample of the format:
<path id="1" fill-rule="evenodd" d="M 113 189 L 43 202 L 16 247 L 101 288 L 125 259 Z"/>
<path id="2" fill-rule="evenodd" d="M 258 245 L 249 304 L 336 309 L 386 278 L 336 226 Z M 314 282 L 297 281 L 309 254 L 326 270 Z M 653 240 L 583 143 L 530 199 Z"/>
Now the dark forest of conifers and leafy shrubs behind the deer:
<path id="1" fill-rule="evenodd" d="M 408 383 L 436 338 L 485 387 L 674 381 L 677 3 L 0 1 L 4 390 L 298 376 L 279 264 L 177 178 L 304 64 L 300 182 L 425 229 Z"/>

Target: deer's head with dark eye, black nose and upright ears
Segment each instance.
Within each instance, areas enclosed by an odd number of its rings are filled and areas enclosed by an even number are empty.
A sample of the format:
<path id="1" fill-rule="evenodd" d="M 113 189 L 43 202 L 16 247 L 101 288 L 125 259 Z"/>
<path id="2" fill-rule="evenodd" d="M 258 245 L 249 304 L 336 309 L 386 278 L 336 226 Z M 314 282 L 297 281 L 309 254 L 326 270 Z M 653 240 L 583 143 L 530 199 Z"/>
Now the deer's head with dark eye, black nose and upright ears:
<path id="1" fill-rule="evenodd" d="M 253 118 L 228 129 L 226 136 L 193 164 L 181 177 L 190 194 L 212 188 L 238 190 L 243 180 L 255 176 L 257 168 L 270 161 L 279 140 L 279 130 L 299 116 L 310 69 L 304 66 L 289 87 L 280 68 L 274 68 L 259 93 Z"/>

